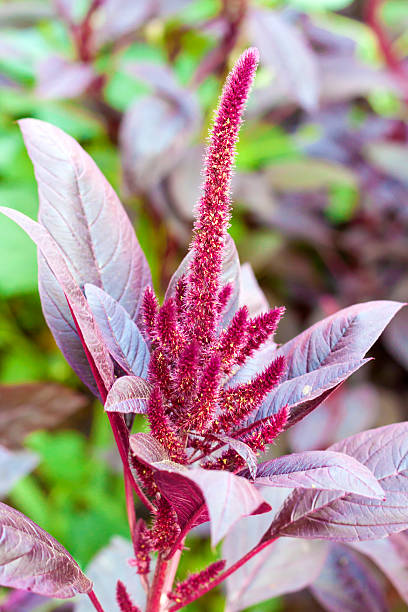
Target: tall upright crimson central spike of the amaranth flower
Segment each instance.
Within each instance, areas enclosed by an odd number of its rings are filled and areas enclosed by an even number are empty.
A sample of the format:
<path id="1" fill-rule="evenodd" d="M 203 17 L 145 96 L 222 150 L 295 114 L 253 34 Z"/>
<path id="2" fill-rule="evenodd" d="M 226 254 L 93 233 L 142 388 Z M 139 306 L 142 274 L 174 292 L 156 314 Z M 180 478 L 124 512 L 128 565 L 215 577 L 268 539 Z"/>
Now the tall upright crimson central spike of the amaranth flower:
<path id="1" fill-rule="evenodd" d="M 193 258 L 186 295 L 186 330 L 204 345 L 214 339 L 222 252 L 230 220 L 231 169 L 245 102 L 259 54 L 248 49 L 241 55 L 223 89 L 206 158 L 203 196 L 197 207 Z"/>

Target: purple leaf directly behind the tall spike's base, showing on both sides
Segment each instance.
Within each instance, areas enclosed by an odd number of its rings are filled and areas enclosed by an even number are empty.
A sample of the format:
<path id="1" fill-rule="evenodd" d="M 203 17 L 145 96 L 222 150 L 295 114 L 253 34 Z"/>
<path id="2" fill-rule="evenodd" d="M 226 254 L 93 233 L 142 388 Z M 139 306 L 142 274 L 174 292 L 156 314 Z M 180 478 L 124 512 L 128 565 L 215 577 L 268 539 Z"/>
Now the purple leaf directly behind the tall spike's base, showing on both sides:
<path id="1" fill-rule="evenodd" d="M 167 287 L 166 295 L 164 298 L 165 300 L 174 295 L 176 283 L 179 278 L 181 278 L 184 274 L 188 272 L 191 259 L 192 252 L 189 251 L 170 279 L 169 286 Z M 229 283 L 232 283 L 233 285 L 233 292 L 222 317 L 223 327 L 226 327 L 228 325 L 238 308 L 241 289 L 241 268 L 239 263 L 238 251 L 237 247 L 235 246 L 234 240 L 228 234 L 223 254 L 221 285 L 224 286 L 228 285 Z"/>

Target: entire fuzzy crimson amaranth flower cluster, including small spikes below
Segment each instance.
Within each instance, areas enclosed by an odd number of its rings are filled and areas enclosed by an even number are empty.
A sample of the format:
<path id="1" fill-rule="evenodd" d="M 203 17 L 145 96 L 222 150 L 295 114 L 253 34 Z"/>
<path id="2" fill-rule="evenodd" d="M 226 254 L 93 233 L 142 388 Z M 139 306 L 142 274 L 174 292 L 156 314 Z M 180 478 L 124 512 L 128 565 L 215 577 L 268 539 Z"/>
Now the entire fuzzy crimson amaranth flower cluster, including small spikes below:
<path id="1" fill-rule="evenodd" d="M 277 385 L 285 368 L 278 357 L 245 384 L 230 384 L 236 371 L 273 337 L 283 308 L 251 317 L 239 308 L 227 327 L 221 322 L 233 294 L 221 284 L 223 251 L 230 220 L 230 182 L 243 109 L 258 63 L 258 52 L 247 50 L 229 75 L 220 98 L 205 163 L 203 195 L 198 203 L 190 263 L 171 297 L 160 306 L 150 288 L 143 300 L 143 325 L 152 353 L 149 382 L 152 391 L 147 416 L 151 434 L 169 458 L 183 465 L 239 472 L 245 461 L 233 445 L 213 454 L 227 437 L 251 451 L 283 430 L 287 412 L 248 425 L 250 415 Z M 168 549 L 177 540 L 177 516 L 159 495 L 148 466 L 133 458 L 133 468 L 156 510 L 149 529 L 138 522 L 135 564 L 149 572 L 149 554 Z M 219 571 L 218 566 L 213 568 Z M 212 573 L 206 575 L 211 580 Z M 171 597 L 180 601 L 203 576 L 190 577 Z M 194 584 L 193 584 L 194 582 Z M 191 584 L 190 584 L 191 583 Z M 124 601 L 122 593 L 121 600 Z M 127 607 L 122 603 L 122 610 Z"/>

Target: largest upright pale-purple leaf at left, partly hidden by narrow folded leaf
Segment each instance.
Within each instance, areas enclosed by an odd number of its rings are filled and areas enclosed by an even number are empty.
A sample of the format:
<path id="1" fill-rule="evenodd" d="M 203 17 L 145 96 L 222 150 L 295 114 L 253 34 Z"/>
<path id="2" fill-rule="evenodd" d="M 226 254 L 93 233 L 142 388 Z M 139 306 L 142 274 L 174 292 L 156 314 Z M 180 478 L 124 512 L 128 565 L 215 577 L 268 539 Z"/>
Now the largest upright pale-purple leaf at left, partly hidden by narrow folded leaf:
<path id="1" fill-rule="evenodd" d="M 82 289 L 104 289 L 137 320 L 144 288 L 151 284 L 146 258 L 116 193 L 94 161 L 68 134 L 38 121 L 20 121 L 34 165 L 39 220 L 55 239 Z M 94 389 L 93 377 L 60 283 L 39 256 L 44 316 L 68 362 Z"/>

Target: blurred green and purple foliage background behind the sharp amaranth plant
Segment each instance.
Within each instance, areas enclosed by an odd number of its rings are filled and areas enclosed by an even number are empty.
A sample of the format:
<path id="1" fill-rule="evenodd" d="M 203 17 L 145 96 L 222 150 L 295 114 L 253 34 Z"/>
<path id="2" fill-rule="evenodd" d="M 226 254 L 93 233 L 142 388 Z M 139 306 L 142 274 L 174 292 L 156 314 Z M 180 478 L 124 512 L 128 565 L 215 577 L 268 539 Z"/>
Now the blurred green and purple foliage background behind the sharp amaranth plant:
<path id="1" fill-rule="evenodd" d="M 407 25 L 406 0 L 3 0 L 0 201 L 36 216 L 16 120 L 61 127 L 119 192 L 163 292 L 188 245 L 221 84 L 255 44 L 261 67 L 238 147 L 231 233 L 270 303 L 287 307 L 278 340 L 354 302 L 404 301 Z M 406 419 L 407 336 L 404 310 L 375 362 L 280 444 L 325 448 Z M 45 327 L 35 248 L 7 221 L 0 382 L 0 443 L 40 456 L 9 502 L 86 566 L 113 535 L 127 536 L 121 479 L 102 410 Z M 190 546 L 181 572 L 216 557 L 199 537 Z M 403 609 L 388 591 L 392 609 Z M 222 594 L 190 608 L 221 610 Z M 319 607 L 306 592 L 251 608 L 308 609 Z"/>

